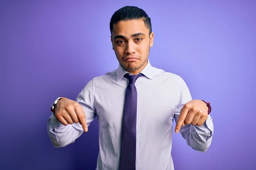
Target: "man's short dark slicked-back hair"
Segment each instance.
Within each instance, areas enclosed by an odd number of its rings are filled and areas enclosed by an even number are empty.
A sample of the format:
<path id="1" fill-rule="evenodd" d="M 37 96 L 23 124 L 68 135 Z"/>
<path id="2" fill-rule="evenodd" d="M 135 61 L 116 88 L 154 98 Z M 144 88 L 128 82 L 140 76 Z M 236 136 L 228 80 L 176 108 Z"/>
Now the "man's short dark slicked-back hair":
<path id="1" fill-rule="evenodd" d="M 149 30 L 149 34 L 151 34 L 151 20 L 148 17 L 148 14 L 141 8 L 137 6 L 125 6 L 115 11 L 110 20 L 110 32 L 112 34 L 113 24 L 118 23 L 119 21 L 127 21 L 127 20 L 139 20 L 143 19 L 145 26 Z"/>

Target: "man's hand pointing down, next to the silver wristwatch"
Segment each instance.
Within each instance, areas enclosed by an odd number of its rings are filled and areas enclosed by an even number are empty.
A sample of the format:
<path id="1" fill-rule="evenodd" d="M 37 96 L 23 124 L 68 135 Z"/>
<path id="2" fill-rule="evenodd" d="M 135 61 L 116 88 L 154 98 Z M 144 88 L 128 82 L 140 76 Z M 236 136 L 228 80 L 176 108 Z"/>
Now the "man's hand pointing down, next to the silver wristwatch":
<path id="1" fill-rule="evenodd" d="M 78 102 L 71 99 L 61 99 L 55 105 L 54 112 L 56 119 L 63 125 L 67 126 L 68 124 L 80 123 L 84 131 L 88 131 L 84 109 Z"/>

